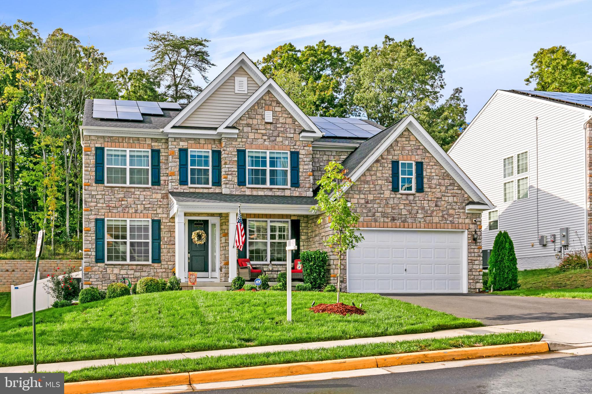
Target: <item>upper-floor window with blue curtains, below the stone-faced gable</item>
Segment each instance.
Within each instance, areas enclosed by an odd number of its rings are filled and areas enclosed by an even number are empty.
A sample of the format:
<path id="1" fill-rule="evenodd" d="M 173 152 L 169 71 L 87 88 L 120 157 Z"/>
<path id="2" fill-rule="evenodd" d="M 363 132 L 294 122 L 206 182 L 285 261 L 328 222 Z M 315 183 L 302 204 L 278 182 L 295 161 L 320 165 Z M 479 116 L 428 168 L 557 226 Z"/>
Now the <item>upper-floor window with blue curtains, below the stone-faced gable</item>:
<path id="1" fill-rule="evenodd" d="M 288 187 L 288 152 L 247 151 L 247 185 Z"/>

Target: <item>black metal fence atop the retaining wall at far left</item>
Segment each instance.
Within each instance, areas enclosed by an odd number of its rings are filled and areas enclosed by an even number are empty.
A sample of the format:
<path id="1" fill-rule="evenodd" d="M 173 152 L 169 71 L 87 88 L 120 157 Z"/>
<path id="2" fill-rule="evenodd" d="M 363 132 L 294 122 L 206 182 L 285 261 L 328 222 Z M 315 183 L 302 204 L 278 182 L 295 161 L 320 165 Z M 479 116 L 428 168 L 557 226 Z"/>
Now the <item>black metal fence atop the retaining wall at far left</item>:
<path id="1" fill-rule="evenodd" d="M 0 260 L 34 260 L 36 243 L 18 241 L 0 242 Z M 43 260 L 79 260 L 82 259 L 82 242 L 67 241 L 46 243 L 43 245 Z"/>

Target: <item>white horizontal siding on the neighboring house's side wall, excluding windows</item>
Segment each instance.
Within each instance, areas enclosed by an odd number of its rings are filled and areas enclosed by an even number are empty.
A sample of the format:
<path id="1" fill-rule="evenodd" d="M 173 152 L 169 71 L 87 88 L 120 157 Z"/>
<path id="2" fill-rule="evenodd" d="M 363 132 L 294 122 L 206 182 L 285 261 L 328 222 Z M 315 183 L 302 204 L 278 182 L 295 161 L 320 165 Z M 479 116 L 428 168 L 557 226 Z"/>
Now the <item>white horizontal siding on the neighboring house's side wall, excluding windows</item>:
<path id="1" fill-rule="evenodd" d="M 587 194 L 583 125 L 589 115 L 584 116 L 567 105 L 497 92 L 449 152 L 498 207 L 498 230 L 506 230 L 513 240 L 520 269 L 557 265 L 554 245 L 540 246 L 538 235 L 559 235 L 560 227 L 570 227 L 571 250 L 583 249 Z M 504 203 L 503 158 L 524 151 L 529 151 L 529 198 Z M 483 249 L 491 249 L 498 230 L 488 231 L 487 213 L 482 219 Z"/>

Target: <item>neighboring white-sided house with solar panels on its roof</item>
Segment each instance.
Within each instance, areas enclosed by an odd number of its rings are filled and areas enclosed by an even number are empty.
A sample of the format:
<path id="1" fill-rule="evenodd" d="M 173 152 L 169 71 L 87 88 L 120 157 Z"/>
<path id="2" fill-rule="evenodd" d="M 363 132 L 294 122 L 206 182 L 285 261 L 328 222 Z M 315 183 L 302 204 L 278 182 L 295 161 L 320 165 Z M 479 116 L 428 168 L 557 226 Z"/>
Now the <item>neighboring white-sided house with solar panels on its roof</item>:
<path id="1" fill-rule="evenodd" d="M 519 269 L 587 250 L 591 117 L 592 95 L 497 90 L 452 146 L 448 154 L 496 205 L 482 217 L 485 261 L 500 230 L 514 242 Z"/>

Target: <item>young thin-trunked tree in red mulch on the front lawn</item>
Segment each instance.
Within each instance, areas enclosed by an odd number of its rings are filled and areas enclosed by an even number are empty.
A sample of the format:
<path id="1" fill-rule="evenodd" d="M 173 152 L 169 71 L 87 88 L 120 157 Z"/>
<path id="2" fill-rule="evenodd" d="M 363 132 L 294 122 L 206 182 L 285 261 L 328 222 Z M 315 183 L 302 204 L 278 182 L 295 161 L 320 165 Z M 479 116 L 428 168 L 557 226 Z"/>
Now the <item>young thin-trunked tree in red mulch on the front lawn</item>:
<path id="1" fill-rule="evenodd" d="M 315 197 L 317 205 L 310 210 L 320 213 L 318 224 L 327 220 L 332 230 L 331 235 L 323 243 L 332 249 L 333 255 L 337 256 L 337 302 L 339 302 L 343 255 L 348 250 L 354 249 L 364 237 L 359 233 L 358 228 L 360 216 L 352 212 L 353 204 L 345 198 L 346 190 L 353 185 L 352 179 L 346 175 L 347 170 L 334 161 L 329 162 L 324 170 L 325 173 L 317 181 L 317 185 L 320 186 Z"/>

